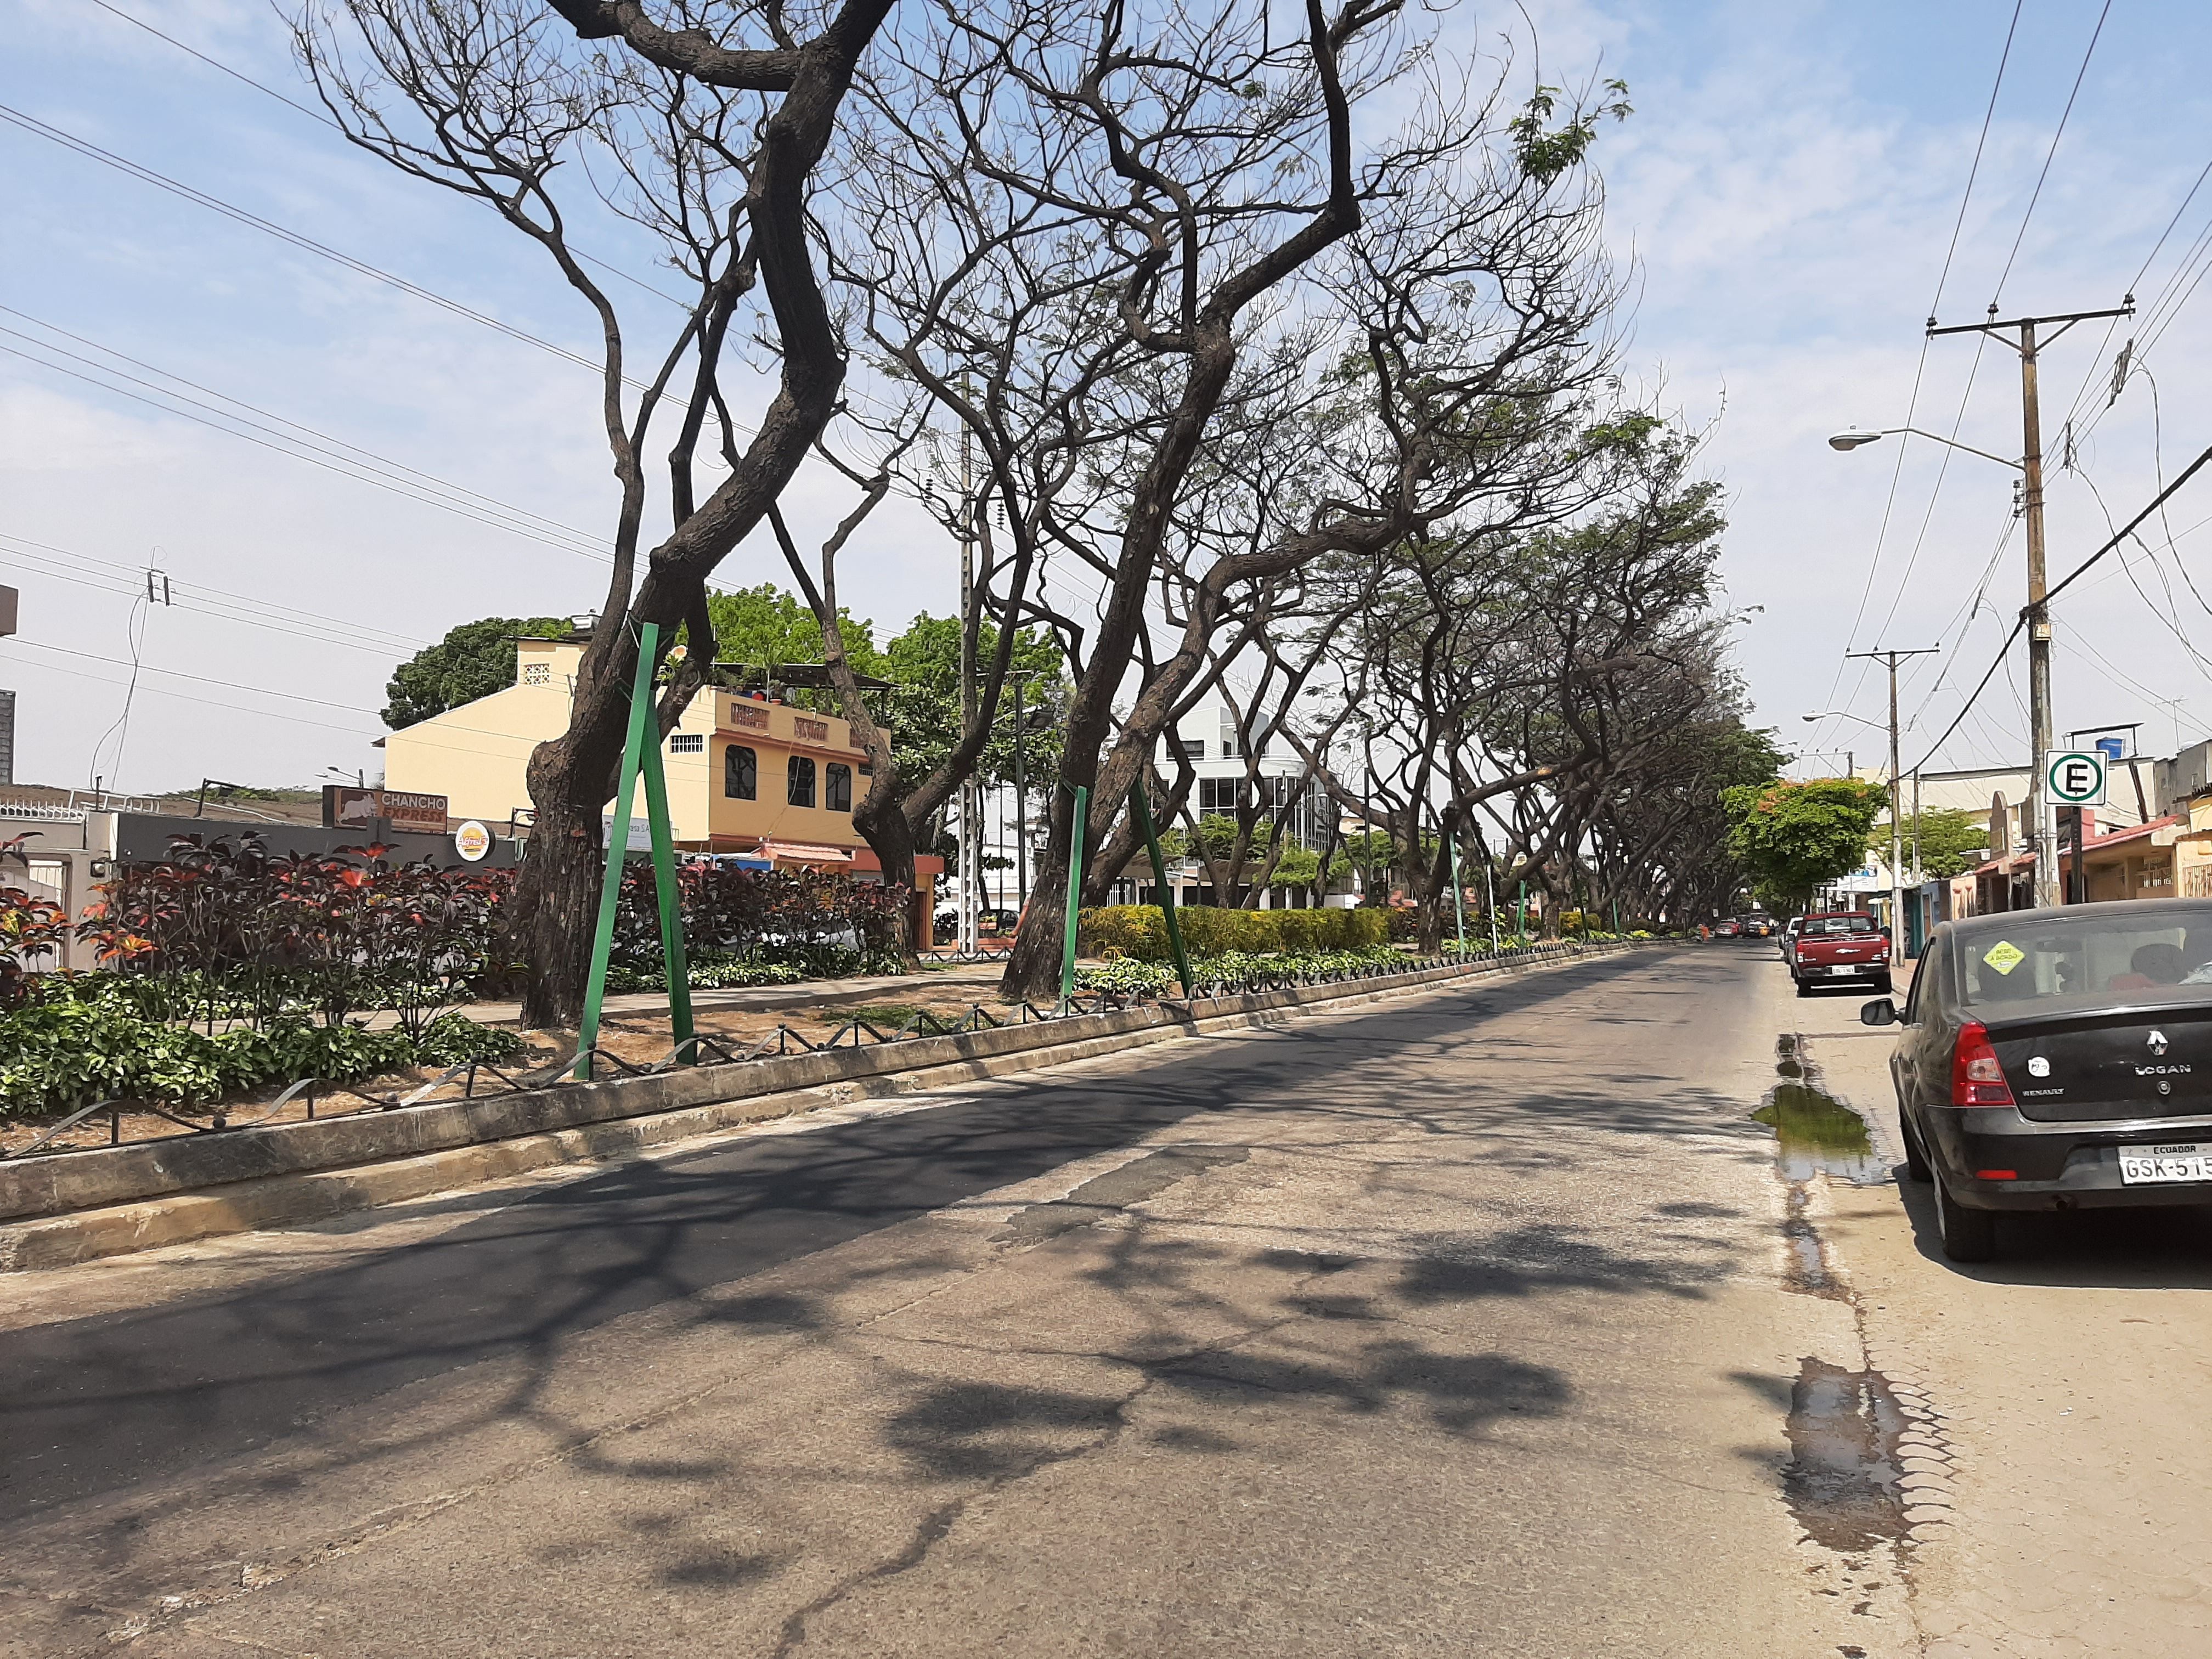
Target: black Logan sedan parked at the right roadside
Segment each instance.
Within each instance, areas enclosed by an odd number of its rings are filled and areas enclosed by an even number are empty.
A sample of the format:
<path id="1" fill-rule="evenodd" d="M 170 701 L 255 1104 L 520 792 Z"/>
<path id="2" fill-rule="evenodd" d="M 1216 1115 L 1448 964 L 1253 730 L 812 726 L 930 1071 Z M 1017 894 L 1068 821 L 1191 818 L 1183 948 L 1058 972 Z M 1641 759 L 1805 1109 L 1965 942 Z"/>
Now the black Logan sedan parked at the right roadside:
<path id="1" fill-rule="evenodd" d="M 1889 1075 L 1944 1254 L 2000 1210 L 2212 1203 L 2212 902 L 2150 898 L 1944 922 Z"/>

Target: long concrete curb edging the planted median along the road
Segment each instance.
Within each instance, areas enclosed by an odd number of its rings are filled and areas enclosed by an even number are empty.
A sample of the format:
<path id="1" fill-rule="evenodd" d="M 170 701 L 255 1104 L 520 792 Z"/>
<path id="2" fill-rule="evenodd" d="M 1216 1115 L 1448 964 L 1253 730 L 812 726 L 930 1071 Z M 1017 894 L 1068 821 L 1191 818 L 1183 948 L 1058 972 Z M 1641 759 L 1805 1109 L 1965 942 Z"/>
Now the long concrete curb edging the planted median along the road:
<path id="1" fill-rule="evenodd" d="M 18 1177 L 0 1186 L 0 1214 L 24 1217 L 0 1225 L 0 1272 L 325 1221 L 557 1164 L 635 1157 L 821 1106 L 1009 1077 L 1626 949 L 1632 947 L 1601 945 L 1573 956 L 1208 998 L 1188 1009 L 1146 1004 L 878 1048 L 73 1152 L 0 1170 L 0 1177 Z"/>

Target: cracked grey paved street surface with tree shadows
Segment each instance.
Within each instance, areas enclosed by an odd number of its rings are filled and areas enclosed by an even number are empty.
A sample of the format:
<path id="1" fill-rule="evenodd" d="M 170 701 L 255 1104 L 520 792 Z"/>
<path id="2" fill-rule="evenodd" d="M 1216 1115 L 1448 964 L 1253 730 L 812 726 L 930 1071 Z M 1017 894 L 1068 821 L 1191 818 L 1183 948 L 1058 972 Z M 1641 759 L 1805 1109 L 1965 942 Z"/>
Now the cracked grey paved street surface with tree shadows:
<path id="1" fill-rule="evenodd" d="M 0 1279 L 0 1652 L 2212 1650 L 2199 1223 L 1931 1261 L 1805 1152 L 1856 1009 L 1655 951 Z"/>

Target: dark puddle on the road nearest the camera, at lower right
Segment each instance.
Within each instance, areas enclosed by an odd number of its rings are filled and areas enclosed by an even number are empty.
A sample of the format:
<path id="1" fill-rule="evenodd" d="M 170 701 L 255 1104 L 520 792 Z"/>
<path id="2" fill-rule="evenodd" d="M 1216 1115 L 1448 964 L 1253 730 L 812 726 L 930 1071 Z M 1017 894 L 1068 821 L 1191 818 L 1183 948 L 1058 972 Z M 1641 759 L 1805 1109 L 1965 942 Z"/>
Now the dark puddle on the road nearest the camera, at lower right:
<path id="1" fill-rule="evenodd" d="M 1880 1371 L 1803 1360 L 1787 1431 L 1783 1493 L 1807 1537 L 1840 1555 L 1905 1537 L 1905 1411 Z"/>

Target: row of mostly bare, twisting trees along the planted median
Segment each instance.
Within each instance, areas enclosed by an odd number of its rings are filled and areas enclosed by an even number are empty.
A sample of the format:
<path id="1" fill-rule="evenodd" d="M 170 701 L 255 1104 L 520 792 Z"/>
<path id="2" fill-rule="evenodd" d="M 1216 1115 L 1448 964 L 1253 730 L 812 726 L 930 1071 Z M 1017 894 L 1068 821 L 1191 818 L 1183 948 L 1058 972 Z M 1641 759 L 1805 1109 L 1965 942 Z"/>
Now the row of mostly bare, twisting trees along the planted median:
<path id="1" fill-rule="evenodd" d="M 1621 392 L 1590 166 L 1626 88 L 1533 86 L 1438 24 L 1398 0 L 299 13 L 354 142 L 535 243 L 602 343 L 613 568 L 571 728 L 529 768 L 529 1022 L 582 1002 L 639 626 L 686 646 L 666 730 L 741 546 L 743 580 L 781 564 L 821 626 L 889 880 L 984 763 L 1018 644 L 1057 644 L 1020 995 L 1051 991 L 1071 885 L 1135 849 L 1130 790 L 1188 803 L 1159 739 L 1214 688 L 1358 799 L 1431 936 L 1440 838 L 1646 909 L 1717 880 L 1690 818 L 1741 732 L 1719 520 L 1694 445 Z M 664 252 L 641 323 L 575 241 L 606 212 Z M 810 465 L 849 500 L 801 546 L 779 500 Z M 841 560 L 894 495 L 973 551 L 956 739 L 927 770 L 887 763 L 843 626 Z"/>

